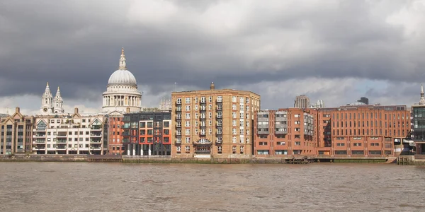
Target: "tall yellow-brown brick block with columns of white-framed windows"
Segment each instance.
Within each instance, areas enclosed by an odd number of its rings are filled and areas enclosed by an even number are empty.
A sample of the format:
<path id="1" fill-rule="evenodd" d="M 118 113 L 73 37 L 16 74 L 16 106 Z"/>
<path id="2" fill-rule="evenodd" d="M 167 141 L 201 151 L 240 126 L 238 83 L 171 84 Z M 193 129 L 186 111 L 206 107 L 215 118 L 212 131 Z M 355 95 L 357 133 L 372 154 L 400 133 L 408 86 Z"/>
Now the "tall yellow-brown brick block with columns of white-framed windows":
<path id="1" fill-rule="evenodd" d="M 260 95 L 245 90 L 171 93 L 172 148 L 176 158 L 250 158 Z"/>

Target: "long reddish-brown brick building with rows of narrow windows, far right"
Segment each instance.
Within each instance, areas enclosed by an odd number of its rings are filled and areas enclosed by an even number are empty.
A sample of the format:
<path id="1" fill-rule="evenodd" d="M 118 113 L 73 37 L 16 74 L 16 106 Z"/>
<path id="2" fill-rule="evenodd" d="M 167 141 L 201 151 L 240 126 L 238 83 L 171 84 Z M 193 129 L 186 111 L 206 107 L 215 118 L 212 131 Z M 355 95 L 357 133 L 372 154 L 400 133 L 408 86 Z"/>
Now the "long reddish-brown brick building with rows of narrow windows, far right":
<path id="1" fill-rule="evenodd" d="M 317 110 L 317 153 L 335 157 L 393 156 L 410 131 L 405 105 L 356 104 Z"/>

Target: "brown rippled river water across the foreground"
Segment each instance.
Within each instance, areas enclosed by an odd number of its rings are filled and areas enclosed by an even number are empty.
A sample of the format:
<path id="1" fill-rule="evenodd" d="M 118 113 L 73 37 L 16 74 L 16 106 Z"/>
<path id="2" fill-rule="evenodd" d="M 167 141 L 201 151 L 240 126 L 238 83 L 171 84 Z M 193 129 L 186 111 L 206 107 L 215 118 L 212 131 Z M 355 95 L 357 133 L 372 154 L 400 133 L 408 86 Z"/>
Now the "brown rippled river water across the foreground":
<path id="1" fill-rule="evenodd" d="M 0 211 L 425 211 L 425 167 L 0 163 Z"/>

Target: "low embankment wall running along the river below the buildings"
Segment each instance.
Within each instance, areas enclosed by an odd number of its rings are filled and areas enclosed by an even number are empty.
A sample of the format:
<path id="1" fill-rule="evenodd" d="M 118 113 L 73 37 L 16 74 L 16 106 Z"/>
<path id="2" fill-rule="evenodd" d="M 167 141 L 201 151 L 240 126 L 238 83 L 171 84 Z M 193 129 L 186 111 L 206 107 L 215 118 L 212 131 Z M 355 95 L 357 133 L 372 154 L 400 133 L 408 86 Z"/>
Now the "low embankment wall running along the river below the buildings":
<path id="1" fill-rule="evenodd" d="M 307 164 L 307 163 L 392 163 L 386 158 L 171 158 L 170 155 L 0 155 L 0 162 L 101 162 L 101 163 L 200 163 L 200 164 Z"/>

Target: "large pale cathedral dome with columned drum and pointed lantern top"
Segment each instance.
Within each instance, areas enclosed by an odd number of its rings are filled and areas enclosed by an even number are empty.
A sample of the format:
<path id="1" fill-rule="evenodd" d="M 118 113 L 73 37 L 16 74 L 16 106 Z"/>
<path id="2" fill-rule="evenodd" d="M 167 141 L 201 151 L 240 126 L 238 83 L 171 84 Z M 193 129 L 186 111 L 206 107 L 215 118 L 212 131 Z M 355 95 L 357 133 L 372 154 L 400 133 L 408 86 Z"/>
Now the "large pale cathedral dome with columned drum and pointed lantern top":
<path id="1" fill-rule="evenodd" d="M 118 70 L 109 77 L 108 86 L 103 93 L 102 111 L 106 113 L 125 112 L 127 108 L 130 108 L 130 112 L 140 112 L 141 101 L 142 93 L 137 90 L 135 76 L 127 69 L 123 48 Z"/>

